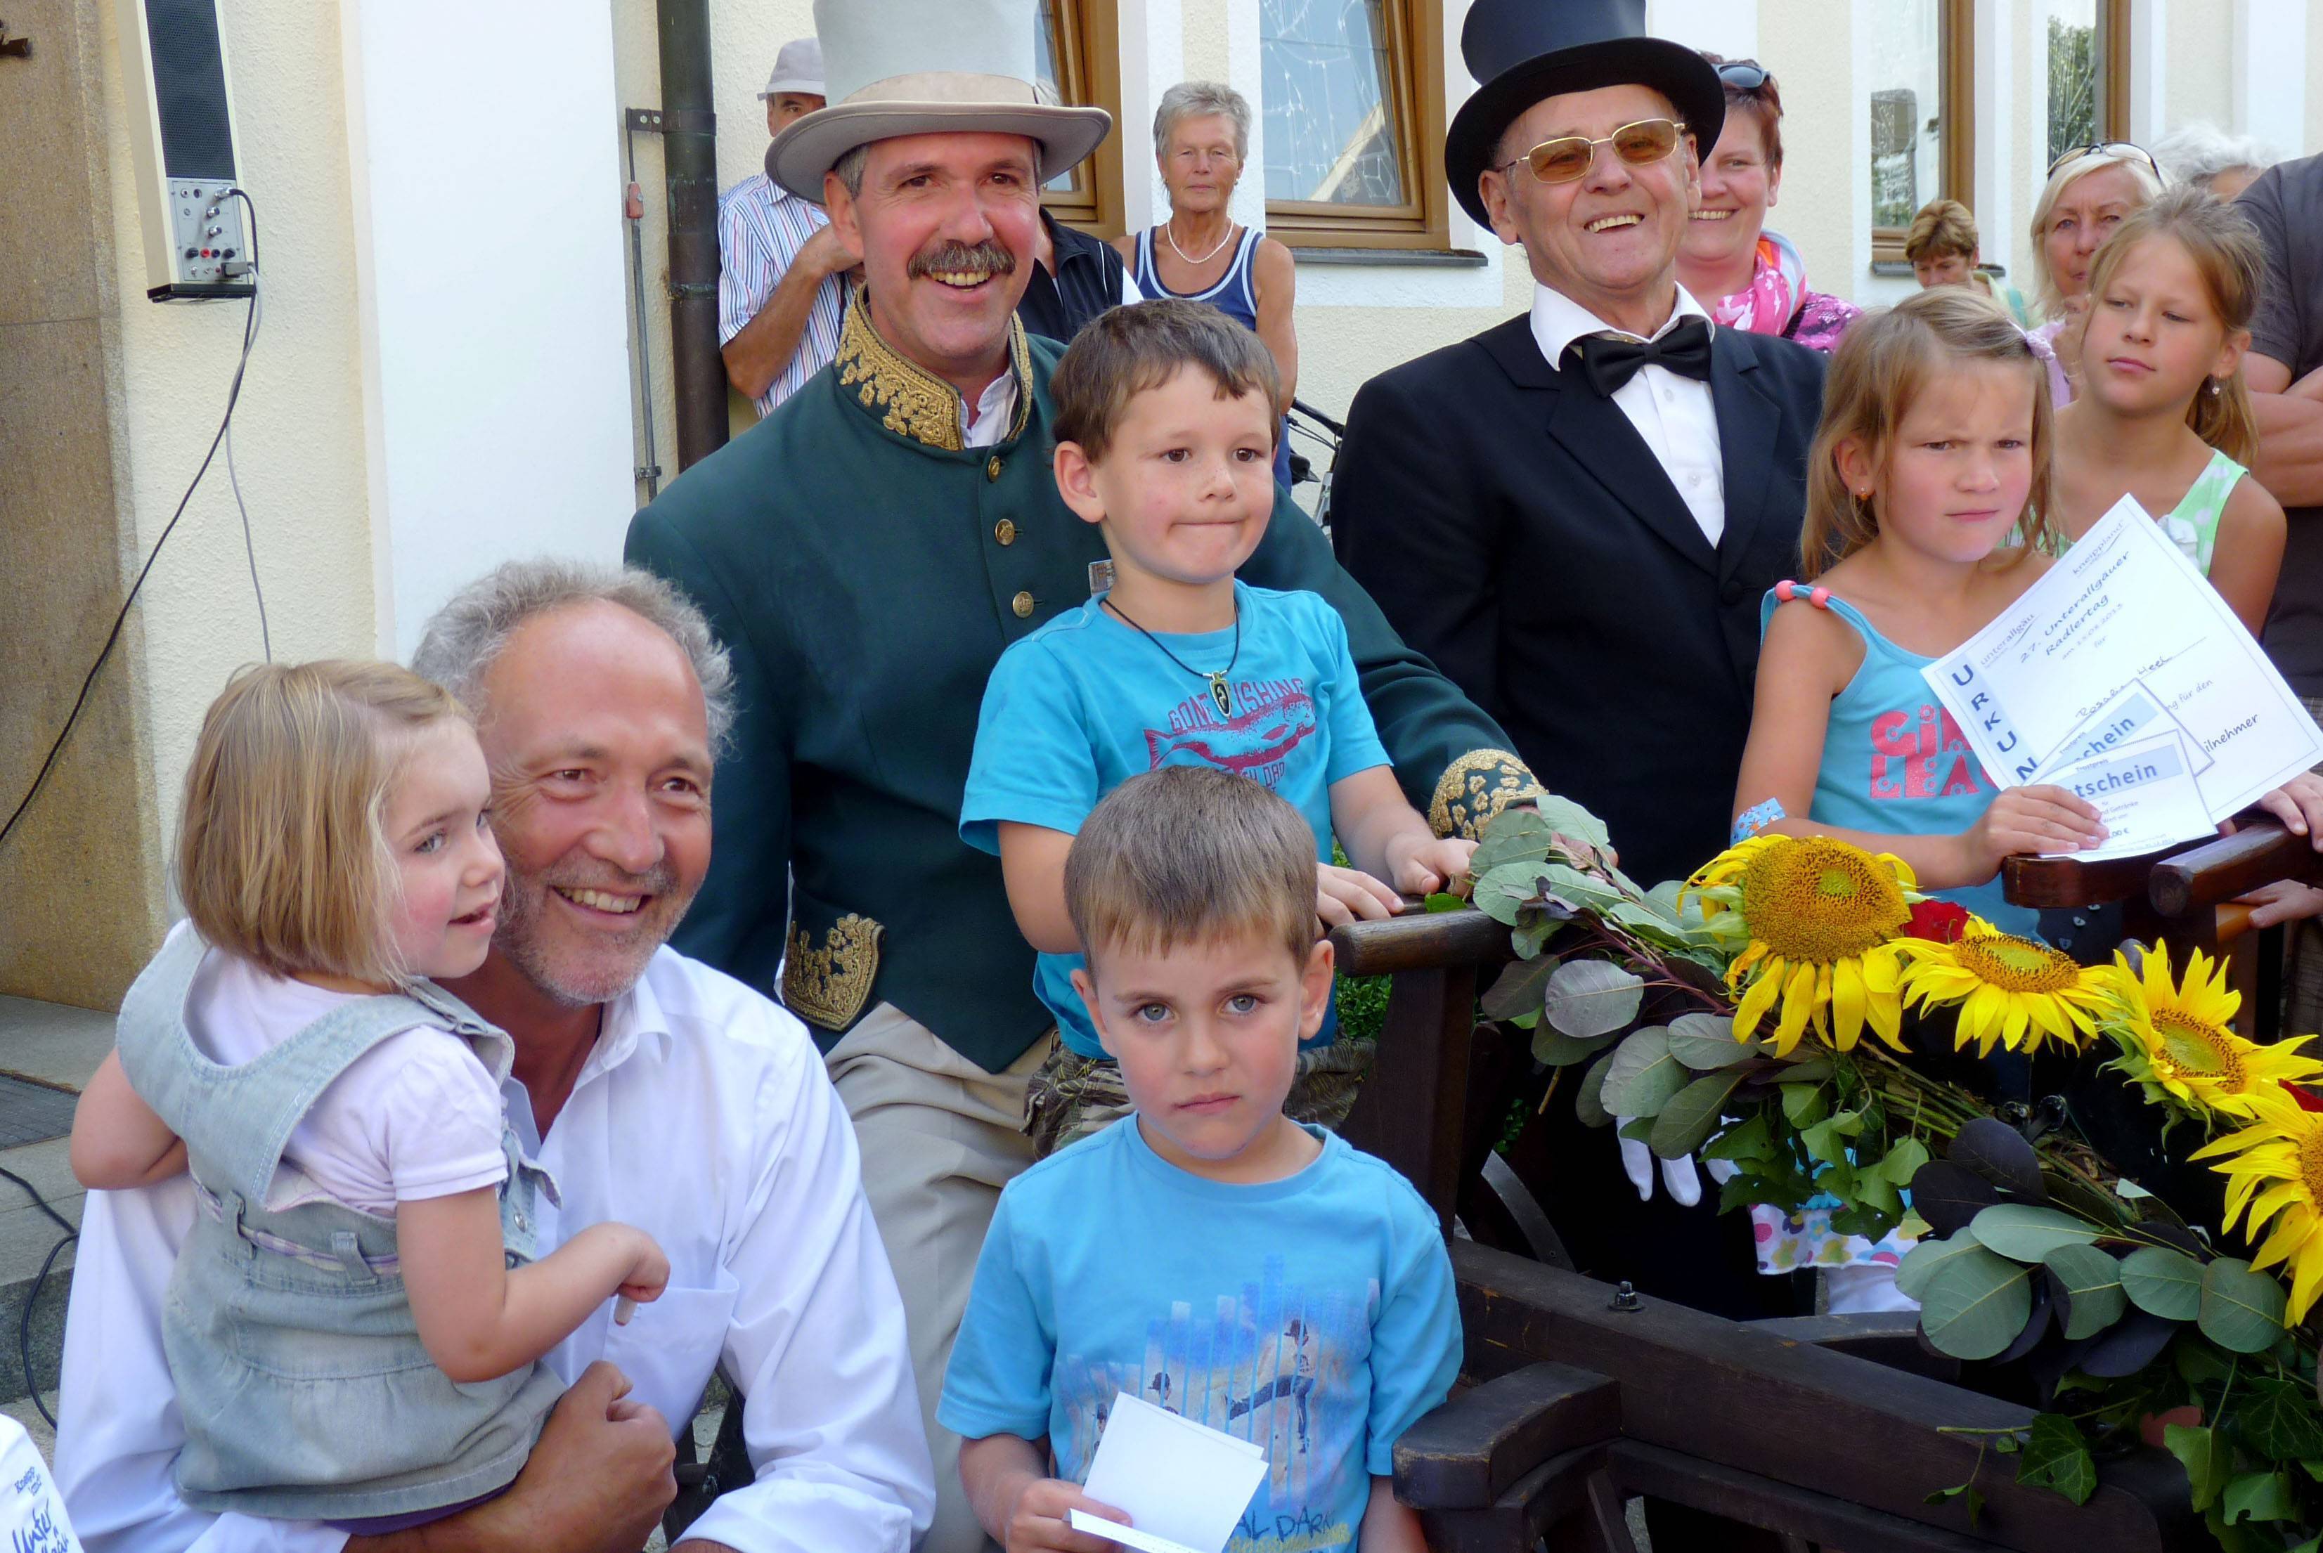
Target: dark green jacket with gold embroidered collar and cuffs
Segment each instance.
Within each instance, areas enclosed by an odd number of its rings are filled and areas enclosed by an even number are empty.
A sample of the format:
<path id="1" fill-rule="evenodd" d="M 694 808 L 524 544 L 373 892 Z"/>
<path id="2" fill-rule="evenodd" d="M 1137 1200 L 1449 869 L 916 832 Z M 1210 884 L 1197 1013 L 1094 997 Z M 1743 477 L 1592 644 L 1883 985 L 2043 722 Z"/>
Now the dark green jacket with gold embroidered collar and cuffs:
<path id="1" fill-rule="evenodd" d="M 959 799 L 992 664 L 1083 604 L 1106 559 L 1050 476 L 1059 353 L 1017 330 L 1017 422 L 964 448 L 952 388 L 850 306 L 825 371 L 630 525 L 627 559 L 685 590 L 734 657 L 718 845 L 676 945 L 762 991 L 787 949 L 781 996 L 825 1047 L 894 1003 L 997 1072 L 1052 1024 L 999 859 L 959 840 Z M 1338 606 L 1380 738 L 1438 831 L 1473 833 L 1533 792 L 1508 736 L 1396 641 L 1287 494 L 1243 578 Z"/>

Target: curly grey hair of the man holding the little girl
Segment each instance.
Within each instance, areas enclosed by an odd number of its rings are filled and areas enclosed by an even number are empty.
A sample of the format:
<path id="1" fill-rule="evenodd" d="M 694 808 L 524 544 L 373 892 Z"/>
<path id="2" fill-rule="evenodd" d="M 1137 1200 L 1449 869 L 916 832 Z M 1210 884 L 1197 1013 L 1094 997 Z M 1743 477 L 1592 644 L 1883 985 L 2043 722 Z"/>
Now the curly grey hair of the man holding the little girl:
<path id="1" fill-rule="evenodd" d="M 439 608 L 411 671 L 434 680 L 483 715 L 483 676 L 516 629 L 527 620 L 571 604 L 618 604 L 678 643 L 702 685 L 702 710 L 711 727 L 711 752 L 725 747 L 734 729 L 734 664 L 695 604 L 662 578 L 639 566 L 606 566 L 541 557 L 504 562 L 476 578 Z"/>

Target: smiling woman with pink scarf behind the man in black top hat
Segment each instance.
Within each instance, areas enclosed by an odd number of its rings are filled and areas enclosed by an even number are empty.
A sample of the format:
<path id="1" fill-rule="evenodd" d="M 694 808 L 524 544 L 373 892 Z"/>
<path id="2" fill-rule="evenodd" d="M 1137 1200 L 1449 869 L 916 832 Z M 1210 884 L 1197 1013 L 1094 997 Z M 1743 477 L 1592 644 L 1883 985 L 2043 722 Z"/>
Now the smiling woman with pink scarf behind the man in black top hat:
<path id="1" fill-rule="evenodd" d="M 1782 193 L 1782 93 L 1759 60 L 1703 51 L 1726 88 L 1726 128 L 1703 158 L 1700 197 L 1677 246 L 1677 279 L 1710 316 L 1752 334 L 1831 351 L 1863 309 L 1807 290 L 1807 265 L 1765 211 Z"/>

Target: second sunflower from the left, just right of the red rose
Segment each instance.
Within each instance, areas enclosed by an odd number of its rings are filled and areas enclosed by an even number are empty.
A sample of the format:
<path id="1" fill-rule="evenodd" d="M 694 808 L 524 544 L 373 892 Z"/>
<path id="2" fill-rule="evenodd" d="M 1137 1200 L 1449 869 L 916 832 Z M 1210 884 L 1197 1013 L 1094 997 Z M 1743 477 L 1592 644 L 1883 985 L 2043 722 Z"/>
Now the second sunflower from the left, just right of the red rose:
<path id="1" fill-rule="evenodd" d="M 1903 973 L 1905 1001 L 1921 1012 L 1958 1003 L 1956 1047 L 1977 1042 L 1977 1056 L 1993 1047 L 2037 1052 L 2042 1040 L 2079 1049 L 2112 1005 L 2112 973 L 2077 966 L 2035 938 L 2002 933 L 1984 917 L 1970 917 L 1951 945 L 1914 940 Z"/>

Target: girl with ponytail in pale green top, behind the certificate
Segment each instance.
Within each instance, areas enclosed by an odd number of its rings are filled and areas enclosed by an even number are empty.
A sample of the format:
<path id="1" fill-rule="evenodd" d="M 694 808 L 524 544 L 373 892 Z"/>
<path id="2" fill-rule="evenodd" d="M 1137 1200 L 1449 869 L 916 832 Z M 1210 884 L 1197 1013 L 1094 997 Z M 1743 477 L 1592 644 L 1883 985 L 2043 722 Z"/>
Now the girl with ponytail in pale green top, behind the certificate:
<path id="1" fill-rule="evenodd" d="M 2284 508 L 2258 481 L 2258 422 L 2242 385 L 2265 281 L 2258 232 L 2181 186 L 2130 214 L 2088 272 L 2081 397 L 2056 416 L 2056 527 L 2070 543 L 2137 497 L 2232 606 L 2267 624 Z"/>

